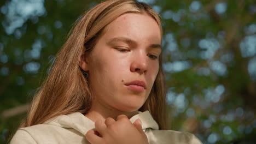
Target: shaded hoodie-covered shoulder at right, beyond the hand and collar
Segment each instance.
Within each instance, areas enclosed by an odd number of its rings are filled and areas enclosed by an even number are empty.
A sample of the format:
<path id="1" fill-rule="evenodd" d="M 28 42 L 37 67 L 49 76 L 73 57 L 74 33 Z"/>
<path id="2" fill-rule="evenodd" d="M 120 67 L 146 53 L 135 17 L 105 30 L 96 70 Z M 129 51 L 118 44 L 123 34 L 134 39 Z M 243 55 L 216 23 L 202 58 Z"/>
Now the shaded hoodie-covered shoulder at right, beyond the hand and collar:
<path id="1" fill-rule="evenodd" d="M 201 144 L 202 142 L 197 139 L 194 134 L 182 131 L 174 130 L 153 130 L 148 129 L 146 134 L 149 139 L 149 143 L 189 143 L 189 144 Z"/>

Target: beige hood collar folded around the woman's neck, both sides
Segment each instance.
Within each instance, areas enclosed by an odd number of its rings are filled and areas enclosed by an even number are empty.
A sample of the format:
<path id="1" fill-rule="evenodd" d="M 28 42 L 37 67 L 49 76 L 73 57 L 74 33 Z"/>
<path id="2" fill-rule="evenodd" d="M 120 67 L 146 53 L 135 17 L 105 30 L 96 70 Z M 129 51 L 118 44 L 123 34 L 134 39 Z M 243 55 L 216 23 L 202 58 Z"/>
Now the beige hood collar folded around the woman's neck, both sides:
<path id="1" fill-rule="evenodd" d="M 153 117 L 150 115 L 149 111 L 139 112 L 137 115 L 130 118 L 133 123 L 136 119 L 141 119 L 142 129 L 145 131 L 147 128 L 158 130 L 158 124 L 155 122 Z M 55 125 L 62 128 L 73 128 L 83 135 L 87 133 L 88 130 L 95 129 L 94 122 L 88 117 L 85 117 L 82 113 L 74 112 L 68 115 L 60 115 L 53 119 L 49 119 L 44 124 Z"/>

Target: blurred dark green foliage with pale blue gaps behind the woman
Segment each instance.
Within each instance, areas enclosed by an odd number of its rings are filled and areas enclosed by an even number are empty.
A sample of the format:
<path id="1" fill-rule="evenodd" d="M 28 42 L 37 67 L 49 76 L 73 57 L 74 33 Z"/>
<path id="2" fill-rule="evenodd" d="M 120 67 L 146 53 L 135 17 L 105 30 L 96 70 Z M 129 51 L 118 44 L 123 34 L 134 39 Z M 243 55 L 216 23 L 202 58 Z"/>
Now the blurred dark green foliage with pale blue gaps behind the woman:
<path id="1" fill-rule="evenodd" d="M 30 103 L 72 23 L 99 2 L 0 1 L 0 143 L 25 117 L 20 106 Z M 144 2 L 162 16 L 170 129 L 203 143 L 255 142 L 255 1 Z"/>

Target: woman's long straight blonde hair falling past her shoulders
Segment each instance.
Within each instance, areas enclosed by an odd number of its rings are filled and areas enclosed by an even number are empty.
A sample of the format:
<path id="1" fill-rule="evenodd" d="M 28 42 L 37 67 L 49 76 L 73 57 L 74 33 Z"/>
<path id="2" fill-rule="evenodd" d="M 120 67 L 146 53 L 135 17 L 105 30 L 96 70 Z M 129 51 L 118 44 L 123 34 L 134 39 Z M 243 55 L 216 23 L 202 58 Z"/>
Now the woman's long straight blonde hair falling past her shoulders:
<path id="1" fill-rule="evenodd" d="M 80 16 L 57 53 L 50 73 L 34 96 L 27 118 L 20 128 L 41 124 L 59 115 L 72 112 L 85 114 L 90 110 L 92 95 L 86 77 L 79 68 L 80 56 L 84 51 L 93 49 L 104 27 L 125 13 L 146 13 L 158 22 L 161 29 L 159 15 L 149 5 L 133 0 L 105 1 Z M 139 111 L 148 110 L 159 128 L 166 129 L 165 79 L 161 56 L 159 65 L 152 91 Z"/>

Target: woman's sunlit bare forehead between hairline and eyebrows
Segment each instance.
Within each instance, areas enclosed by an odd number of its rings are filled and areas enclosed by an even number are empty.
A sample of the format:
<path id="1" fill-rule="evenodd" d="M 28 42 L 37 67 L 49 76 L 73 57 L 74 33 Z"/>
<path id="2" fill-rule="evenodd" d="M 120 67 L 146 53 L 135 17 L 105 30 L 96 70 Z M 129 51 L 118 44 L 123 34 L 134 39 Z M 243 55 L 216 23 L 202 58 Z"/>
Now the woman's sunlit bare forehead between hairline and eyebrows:
<path id="1" fill-rule="evenodd" d="M 158 23 L 147 14 L 126 13 L 119 16 L 104 29 L 107 39 L 130 37 L 148 39 L 161 43 L 161 31 Z"/>

